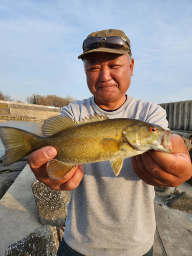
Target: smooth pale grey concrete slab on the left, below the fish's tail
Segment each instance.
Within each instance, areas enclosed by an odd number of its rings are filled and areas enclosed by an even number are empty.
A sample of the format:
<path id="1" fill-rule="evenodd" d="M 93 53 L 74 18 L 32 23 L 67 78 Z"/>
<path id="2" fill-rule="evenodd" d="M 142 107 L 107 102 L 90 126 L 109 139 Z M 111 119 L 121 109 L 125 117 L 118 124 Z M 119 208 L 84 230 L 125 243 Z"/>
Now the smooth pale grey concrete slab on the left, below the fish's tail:
<path id="1" fill-rule="evenodd" d="M 13 185 L 0 200 L 0 256 L 5 255 L 6 247 L 28 236 L 42 226 L 31 183 L 35 180 L 29 165 L 23 169 Z"/>

